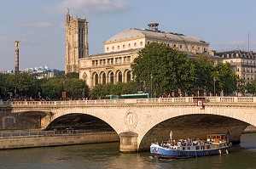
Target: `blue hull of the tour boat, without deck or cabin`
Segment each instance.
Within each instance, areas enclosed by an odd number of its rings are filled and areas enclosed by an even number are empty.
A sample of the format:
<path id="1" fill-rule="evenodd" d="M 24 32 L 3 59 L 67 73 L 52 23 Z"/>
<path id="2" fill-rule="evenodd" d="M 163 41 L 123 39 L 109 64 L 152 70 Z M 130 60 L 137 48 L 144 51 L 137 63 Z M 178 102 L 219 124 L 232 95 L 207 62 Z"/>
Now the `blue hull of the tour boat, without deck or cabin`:
<path id="1" fill-rule="evenodd" d="M 208 155 L 219 155 L 228 154 L 231 144 L 218 149 L 205 149 L 205 150 L 180 150 L 180 149 L 169 149 L 160 146 L 159 144 L 152 144 L 150 146 L 150 153 L 154 157 L 165 158 L 165 159 L 182 159 L 182 158 L 193 158 Z"/>

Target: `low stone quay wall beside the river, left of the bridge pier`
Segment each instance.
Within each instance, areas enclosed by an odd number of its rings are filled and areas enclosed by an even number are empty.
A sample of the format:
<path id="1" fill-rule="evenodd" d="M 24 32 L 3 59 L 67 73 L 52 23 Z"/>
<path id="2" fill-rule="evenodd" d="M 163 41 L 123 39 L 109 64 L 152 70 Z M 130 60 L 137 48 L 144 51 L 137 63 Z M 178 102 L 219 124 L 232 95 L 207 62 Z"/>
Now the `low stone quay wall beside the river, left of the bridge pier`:
<path id="1" fill-rule="evenodd" d="M 32 147 L 59 146 L 71 144 L 96 144 L 118 142 L 116 132 L 96 132 L 60 136 L 39 136 L 20 138 L 0 138 L 0 149 L 22 149 Z"/>

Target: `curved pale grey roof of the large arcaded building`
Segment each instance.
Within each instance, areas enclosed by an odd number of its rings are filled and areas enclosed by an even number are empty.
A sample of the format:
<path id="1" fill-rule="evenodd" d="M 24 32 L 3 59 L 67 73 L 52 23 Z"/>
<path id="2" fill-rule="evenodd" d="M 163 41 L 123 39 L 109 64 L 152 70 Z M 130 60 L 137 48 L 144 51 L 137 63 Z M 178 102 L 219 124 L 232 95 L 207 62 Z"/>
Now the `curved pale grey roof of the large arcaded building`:
<path id="1" fill-rule="evenodd" d="M 117 42 L 129 38 L 135 38 L 135 37 L 158 37 L 158 38 L 166 38 L 166 39 L 172 39 L 177 41 L 185 41 L 185 42 L 202 42 L 199 38 L 196 37 L 188 37 L 184 36 L 183 34 L 178 33 L 172 33 L 172 32 L 166 32 L 166 31 L 152 31 L 148 29 L 137 29 L 137 28 L 130 28 L 128 30 L 122 31 L 115 36 L 108 39 L 107 42 Z"/>

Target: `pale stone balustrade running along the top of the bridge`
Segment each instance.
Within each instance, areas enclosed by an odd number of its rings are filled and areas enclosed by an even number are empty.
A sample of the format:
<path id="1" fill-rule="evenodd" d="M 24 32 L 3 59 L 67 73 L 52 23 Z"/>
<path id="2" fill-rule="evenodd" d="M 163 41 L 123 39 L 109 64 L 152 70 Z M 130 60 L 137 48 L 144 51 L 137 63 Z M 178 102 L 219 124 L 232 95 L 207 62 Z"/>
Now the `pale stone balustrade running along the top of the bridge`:
<path id="1" fill-rule="evenodd" d="M 213 103 L 255 103 L 256 97 L 178 97 L 153 99 L 95 99 L 95 100 L 67 100 L 67 101 L 13 101 L 3 102 L 1 105 L 88 105 L 88 104 L 172 104 L 195 103 L 197 99 Z"/>

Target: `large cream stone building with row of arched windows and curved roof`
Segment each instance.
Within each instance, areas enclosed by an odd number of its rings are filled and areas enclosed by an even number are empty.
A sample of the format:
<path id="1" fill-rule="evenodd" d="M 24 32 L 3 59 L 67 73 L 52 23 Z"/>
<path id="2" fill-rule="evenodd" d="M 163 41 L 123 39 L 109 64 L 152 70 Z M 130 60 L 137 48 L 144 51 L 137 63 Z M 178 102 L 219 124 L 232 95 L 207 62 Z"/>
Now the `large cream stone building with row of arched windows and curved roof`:
<path id="1" fill-rule="evenodd" d="M 89 87 L 131 81 L 131 63 L 150 42 L 164 42 L 191 56 L 208 54 L 209 43 L 183 34 L 159 31 L 158 23 L 151 23 L 148 29 L 131 28 L 111 37 L 104 42 L 104 54 L 79 59 L 79 78 Z"/>

